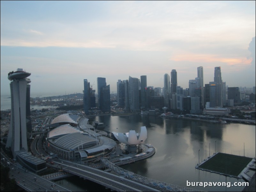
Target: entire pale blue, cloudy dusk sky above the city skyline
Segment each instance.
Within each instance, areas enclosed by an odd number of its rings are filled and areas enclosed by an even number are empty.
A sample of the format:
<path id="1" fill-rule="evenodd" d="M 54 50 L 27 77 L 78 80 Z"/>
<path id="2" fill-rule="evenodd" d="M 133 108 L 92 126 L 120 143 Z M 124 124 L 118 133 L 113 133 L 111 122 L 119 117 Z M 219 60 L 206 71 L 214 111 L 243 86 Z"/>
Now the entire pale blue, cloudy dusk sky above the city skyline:
<path id="1" fill-rule="evenodd" d="M 82 93 L 83 79 L 110 92 L 118 79 L 147 75 L 163 87 L 177 71 L 188 88 L 221 67 L 229 87 L 255 86 L 255 1 L 2 1 L 1 95 L 8 72 L 30 72 L 31 95 Z"/>

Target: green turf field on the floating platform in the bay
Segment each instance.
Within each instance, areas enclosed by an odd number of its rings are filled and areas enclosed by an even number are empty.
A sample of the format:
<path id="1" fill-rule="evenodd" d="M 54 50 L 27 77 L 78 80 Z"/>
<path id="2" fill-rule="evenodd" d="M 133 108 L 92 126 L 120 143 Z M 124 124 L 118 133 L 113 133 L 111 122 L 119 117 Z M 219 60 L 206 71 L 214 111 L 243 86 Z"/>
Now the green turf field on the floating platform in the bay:
<path id="1" fill-rule="evenodd" d="M 237 177 L 251 160 L 248 157 L 217 153 L 198 168 Z"/>

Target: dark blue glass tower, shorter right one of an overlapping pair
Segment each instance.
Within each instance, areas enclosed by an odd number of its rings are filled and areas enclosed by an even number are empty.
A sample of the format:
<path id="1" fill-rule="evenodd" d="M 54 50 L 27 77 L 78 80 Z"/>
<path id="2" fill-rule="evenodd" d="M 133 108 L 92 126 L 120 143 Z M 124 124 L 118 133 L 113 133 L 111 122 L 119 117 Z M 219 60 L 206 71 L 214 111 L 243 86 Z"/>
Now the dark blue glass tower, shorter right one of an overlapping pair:
<path id="1" fill-rule="evenodd" d="M 101 111 L 103 113 L 110 112 L 110 86 L 101 87 Z"/>

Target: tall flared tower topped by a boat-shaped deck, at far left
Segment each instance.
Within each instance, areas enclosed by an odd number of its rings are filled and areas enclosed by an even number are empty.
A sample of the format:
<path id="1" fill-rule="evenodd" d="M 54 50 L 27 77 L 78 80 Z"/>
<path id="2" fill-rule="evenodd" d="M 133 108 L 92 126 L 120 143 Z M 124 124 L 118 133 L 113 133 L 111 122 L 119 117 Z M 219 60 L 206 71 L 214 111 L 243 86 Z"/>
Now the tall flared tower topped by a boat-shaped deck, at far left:
<path id="1" fill-rule="evenodd" d="M 16 152 L 24 149 L 28 151 L 27 146 L 27 114 L 30 111 L 30 85 L 31 81 L 27 79 L 31 73 L 22 69 L 8 73 L 8 79 L 11 81 L 11 122 L 7 138 L 6 147 L 11 147 L 14 159 Z"/>

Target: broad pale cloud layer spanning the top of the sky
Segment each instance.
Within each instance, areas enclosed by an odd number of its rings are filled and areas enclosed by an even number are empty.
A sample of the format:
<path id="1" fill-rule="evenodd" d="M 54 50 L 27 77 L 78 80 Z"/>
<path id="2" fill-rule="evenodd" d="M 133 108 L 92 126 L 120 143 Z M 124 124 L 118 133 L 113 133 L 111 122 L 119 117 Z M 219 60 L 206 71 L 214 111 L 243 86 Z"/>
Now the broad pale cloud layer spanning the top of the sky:
<path id="1" fill-rule="evenodd" d="M 93 6 L 94 3 L 97 6 Z M 200 46 L 220 41 L 241 45 L 246 42 L 245 37 L 252 36 L 248 34 L 255 32 L 252 15 L 244 14 L 237 7 L 231 9 L 230 4 L 221 1 L 117 1 L 99 5 L 97 2 L 76 2 L 76 6 L 69 5 L 69 13 L 64 12 L 67 7 L 60 8 L 64 5 L 67 3 L 41 5 L 47 8 L 46 15 L 45 10 L 38 10 L 40 6 L 37 6 L 27 10 L 27 18 L 18 20 L 4 12 L 6 22 L 3 25 L 1 22 L 1 31 L 8 26 L 8 33 L 1 34 L 1 45 L 165 51 L 176 46 L 161 42 L 184 41 Z M 82 11 L 83 6 L 85 11 Z M 89 8 L 101 8 L 101 14 L 86 14 Z M 33 17 L 34 10 L 38 14 Z M 20 28 L 37 36 L 20 33 Z"/>

